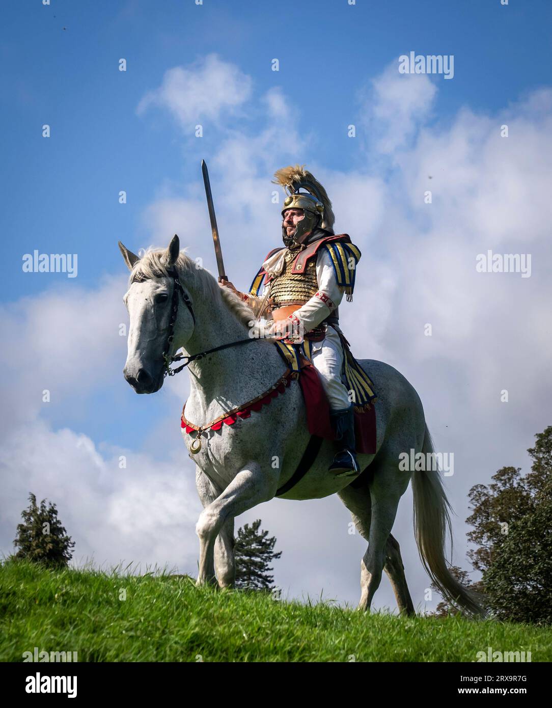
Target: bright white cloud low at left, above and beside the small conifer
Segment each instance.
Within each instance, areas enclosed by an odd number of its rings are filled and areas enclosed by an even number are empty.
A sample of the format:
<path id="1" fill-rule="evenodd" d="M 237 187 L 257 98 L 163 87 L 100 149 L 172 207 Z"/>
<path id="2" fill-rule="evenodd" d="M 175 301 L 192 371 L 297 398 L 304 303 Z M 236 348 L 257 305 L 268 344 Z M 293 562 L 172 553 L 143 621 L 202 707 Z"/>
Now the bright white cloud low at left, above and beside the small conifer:
<path id="1" fill-rule="evenodd" d="M 181 451 L 183 452 L 183 450 Z M 120 469 L 119 457 L 127 457 Z M 195 477 L 173 455 L 161 462 L 130 450 L 98 452 L 86 435 L 43 421 L 4 440 L 1 484 L 6 490 L 0 522 L 4 553 L 29 491 L 54 501 L 59 518 L 76 542 L 74 559 L 115 566 L 122 559 L 142 564 L 195 568 L 195 522 L 200 503 Z"/>

